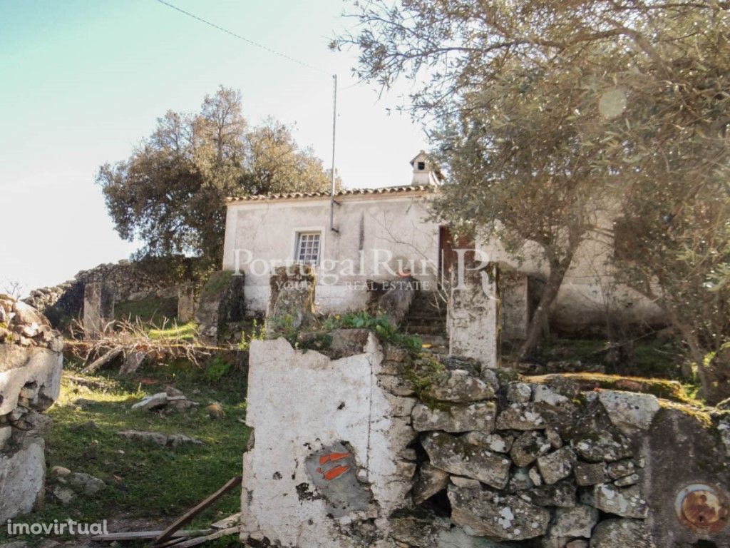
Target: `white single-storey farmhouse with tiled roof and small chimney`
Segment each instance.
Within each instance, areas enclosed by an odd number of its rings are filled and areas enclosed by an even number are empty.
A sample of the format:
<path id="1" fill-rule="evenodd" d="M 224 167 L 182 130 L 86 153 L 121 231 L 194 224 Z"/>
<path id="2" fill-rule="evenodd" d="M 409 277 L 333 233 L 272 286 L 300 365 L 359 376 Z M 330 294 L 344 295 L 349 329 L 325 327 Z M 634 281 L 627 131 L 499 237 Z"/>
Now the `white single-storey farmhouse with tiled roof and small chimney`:
<path id="1" fill-rule="evenodd" d="M 504 275 L 502 313 L 511 338 L 529 321 L 546 270 L 527 246 L 518 259 L 499 242 L 454 241 L 443 223 L 429 215 L 442 175 L 423 151 L 410 161 L 412 180 L 404 186 L 272 194 L 228 199 L 223 270 L 245 275 L 248 311 L 266 311 L 269 278 L 275 266 L 316 265 L 316 303 L 323 312 L 361 310 L 368 281 L 385 282 L 410 272 L 435 291 L 458 262 L 459 248 L 475 248 L 499 262 Z M 661 310 L 628 288 L 615 287 L 607 259 L 613 242 L 586 244 L 576 254 L 552 311 L 565 330 L 605 324 L 607 312 L 630 322 L 661 323 Z M 510 333 L 505 333 L 510 338 Z"/>

